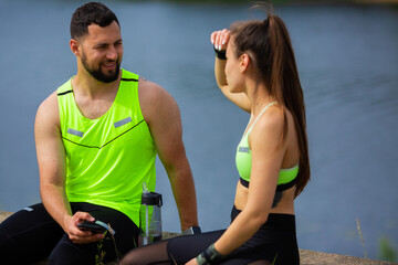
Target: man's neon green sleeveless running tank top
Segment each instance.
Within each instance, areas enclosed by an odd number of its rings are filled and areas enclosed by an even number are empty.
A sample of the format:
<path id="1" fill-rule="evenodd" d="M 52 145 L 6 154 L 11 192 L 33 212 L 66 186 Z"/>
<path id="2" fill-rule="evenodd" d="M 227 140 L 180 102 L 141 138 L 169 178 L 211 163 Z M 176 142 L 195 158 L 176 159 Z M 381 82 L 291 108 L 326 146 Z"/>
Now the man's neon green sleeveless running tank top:
<path id="1" fill-rule="evenodd" d="M 155 190 L 156 148 L 139 106 L 138 75 L 123 70 L 113 105 L 96 119 L 80 112 L 71 81 L 57 88 L 67 198 L 118 210 L 139 225 L 143 181 Z"/>

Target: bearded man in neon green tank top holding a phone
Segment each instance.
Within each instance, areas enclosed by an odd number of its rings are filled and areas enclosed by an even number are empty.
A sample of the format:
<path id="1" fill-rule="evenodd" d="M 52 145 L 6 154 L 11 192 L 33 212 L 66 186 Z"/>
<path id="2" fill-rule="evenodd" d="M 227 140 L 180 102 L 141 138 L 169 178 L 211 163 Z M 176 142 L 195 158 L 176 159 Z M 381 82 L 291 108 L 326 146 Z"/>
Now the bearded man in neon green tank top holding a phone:
<path id="1" fill-rule="evenodd" d="M 119 67 L 121 26 L 104 4 L 78 8 L 71 36 L 77 74 L 41 104 L 35 119 L 42 203 L 0 225 L 6 264 L 49 255 L 50 264 L 94 264 L 95 256 L 108 262 L 137 246 L 143 183 L 155 190 L 156 153 L 169 177 L 181 230 L 198 225 L 174 98 Z M 80 226 L 94 221 L 105 224 L 107 235 L 116 232 L 114 239 Z"/>

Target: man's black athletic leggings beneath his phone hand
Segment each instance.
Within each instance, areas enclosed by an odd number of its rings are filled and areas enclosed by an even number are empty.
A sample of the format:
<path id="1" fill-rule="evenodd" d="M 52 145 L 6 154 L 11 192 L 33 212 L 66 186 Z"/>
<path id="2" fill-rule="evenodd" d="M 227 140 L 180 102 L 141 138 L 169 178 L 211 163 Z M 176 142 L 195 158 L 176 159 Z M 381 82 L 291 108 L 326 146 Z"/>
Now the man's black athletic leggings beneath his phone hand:
<path id="1" fill-rule="evenodd" d="M 116 245 L 112 239 L 102 242 L 104 263 L 116 258 L 116 250 L 124 255 L 136 246 L 139 230 L 122 212 L 83 202 L 72 202 L 71 208 L 73 213 L 88 212 L 116 231 Z M 101 251 L 98 242 L 72 243 L 42 203 L 25 208 L 0 224 L 1 264 L 27 264 L 44 257 L 50 257 L 50 264 L 95 264 L 95 256 L 101 256 Z"/>

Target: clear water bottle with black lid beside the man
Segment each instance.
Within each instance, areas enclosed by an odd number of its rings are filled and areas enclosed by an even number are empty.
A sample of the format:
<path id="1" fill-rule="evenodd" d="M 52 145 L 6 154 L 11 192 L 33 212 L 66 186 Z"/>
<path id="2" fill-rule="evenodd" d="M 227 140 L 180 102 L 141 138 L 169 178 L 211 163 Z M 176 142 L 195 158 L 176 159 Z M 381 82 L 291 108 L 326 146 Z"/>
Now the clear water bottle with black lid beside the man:
<path id="1" fill-rule="evenodd" d="M 147 245 L 161 240 L 161 194 L 150 192 L 143 183 L 142 204 L 139 210 L 139 245 Z"/>

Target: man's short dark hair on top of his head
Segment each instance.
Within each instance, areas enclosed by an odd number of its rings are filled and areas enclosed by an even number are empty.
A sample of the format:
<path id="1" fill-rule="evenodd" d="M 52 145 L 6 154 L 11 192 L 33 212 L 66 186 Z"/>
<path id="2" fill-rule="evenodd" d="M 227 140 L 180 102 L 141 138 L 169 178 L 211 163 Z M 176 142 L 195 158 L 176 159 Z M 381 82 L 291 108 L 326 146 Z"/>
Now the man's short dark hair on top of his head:
<path id="1" fill-rule="evenodd" d="M 88 33 L 88 25 L 97 24 L 102 28 L 108 26 L 112 22 L 121 26 L 116 14 L 101 2 L 88 2 L 72 14 L 71 38 L 77 40 Z"/>

